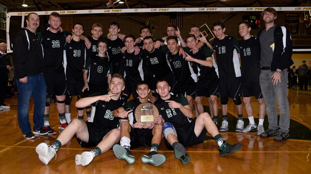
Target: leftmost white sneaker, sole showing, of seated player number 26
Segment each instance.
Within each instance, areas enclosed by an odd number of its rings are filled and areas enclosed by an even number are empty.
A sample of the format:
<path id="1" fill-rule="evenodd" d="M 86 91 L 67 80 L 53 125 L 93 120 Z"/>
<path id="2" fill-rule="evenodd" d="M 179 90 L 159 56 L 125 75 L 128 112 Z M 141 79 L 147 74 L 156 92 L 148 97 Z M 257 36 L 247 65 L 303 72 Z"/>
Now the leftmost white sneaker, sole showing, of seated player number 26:
<path id="1" fill-rule="evenodd" d="M 56 150 L 54 148 L 51 148 L 51 146 L 46 143 L 40 143 L 36 147 L 36 152 L 39 155 L 40 161 L 42 161 L 42 163 L 44 164 L 48 164 L 49 161 L 51 161 L 51 159 L 54 157 L 54 155 L 56 155 Z"/>

